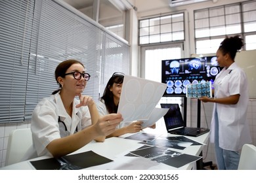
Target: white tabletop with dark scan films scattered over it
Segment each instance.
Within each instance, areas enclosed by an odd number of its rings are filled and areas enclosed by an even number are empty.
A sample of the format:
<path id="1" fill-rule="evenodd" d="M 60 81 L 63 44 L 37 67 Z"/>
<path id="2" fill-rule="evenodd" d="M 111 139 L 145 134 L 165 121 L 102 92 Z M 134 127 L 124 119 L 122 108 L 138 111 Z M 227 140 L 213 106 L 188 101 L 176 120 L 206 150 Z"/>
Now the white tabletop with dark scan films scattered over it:
<path id="1" fill-rule="evenodd" d="M 124 135 L 123 137 L 127 137 L 131 134 Z M 177 135 L 161 135 L 161 136 L 170 136 L 175 137 Z M 77 154 L 81 152 L 87 152 L 89 150 L 93 150 L 96 154 L 99 154 L 101 156 L 104 156 L 106 158 L 112 159 L 114 161 L 110 163 L 106 163 L 104 165 L 98 165 L 95 167 L 89 167 L 88 169 L 177 169 L 175 167 L 171 167 L 168 165 L 165 165 L 163 163 L 157 163 L 155 161 L 150 161 L 146 158 L 135 158 L 135 157 L 125 157 L 124 155 L 129 153 L 131 150 L 136 150 L 140 146 L 143 146 L 143 144 L 139 144 L 139 141 L 133 141 L 130 139 L 124 139 L 123 137 L 112 137 L 110 139 L 106 139 L 105 142 L 90 142 L 86 146 L 83 146 L 83 148 L 80 148 L 79 150 L 75 151 L 72 154 Z M 199 137 L 188 137 L 189 139 L 192 139 L 194 141 L 200 142 L 205 144 L 207 142 L 207 139 L 209 138 L 209 133 L 206 133 L 204 135 L 200 135 Z M 177 152 L 182 152 L 185 154 L 190 154 L 194 156 L 199 156 L 202 152 L 203 146 L 188 146 L 184 150 L 177 150 L 177 149 L 171 149 Z M 50 158 L 49 156 L 42 156 L 39 158 L 35 158 L 33 160 L 37 159 L 46 159 Z M 0 170 L 32 170 L 35 169 L 32 164 L 30 163 L 32 159 L 28 161 L 22 161 L 20 163 L 15 163 L 12 165 L 8 165 L 6 167 L 1 167 Z M 187 165 L 184 165 L 180 167 L 179 169 L 192 169 L 192 167 L 196 163 L 189 163 Z"/>

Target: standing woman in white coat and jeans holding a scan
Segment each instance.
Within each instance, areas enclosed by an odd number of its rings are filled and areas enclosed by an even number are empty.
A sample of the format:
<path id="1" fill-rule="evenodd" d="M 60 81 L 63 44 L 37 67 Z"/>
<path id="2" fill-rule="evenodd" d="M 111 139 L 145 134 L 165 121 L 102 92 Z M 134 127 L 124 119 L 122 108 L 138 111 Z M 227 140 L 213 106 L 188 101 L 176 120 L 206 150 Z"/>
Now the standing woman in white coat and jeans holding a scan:
<path id="1" fill-rule="evenodd" d="M 249 101 L 247 78 L 234 58 L 242 46 L 239 36 L 226 37 L 216 56 L 223 69 L 214 82 L 214 98 L 202 97 L 203 102 L 215 103 L 211 120 L 211 141 L 220 170 L 238 169 L 242 146 L 251 143 L 247 123 Z"/>

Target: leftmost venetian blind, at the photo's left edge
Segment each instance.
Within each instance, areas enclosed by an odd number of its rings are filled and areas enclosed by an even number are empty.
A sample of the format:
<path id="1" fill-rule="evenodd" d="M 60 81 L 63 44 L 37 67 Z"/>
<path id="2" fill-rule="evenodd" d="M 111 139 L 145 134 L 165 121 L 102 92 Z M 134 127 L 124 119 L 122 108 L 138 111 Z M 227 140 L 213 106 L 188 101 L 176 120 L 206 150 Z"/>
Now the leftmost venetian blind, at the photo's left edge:
<path id="1" fill-rule="evenodd" d="M 22 122 L 33 1 L 0 1 L 0 122 Z"/>

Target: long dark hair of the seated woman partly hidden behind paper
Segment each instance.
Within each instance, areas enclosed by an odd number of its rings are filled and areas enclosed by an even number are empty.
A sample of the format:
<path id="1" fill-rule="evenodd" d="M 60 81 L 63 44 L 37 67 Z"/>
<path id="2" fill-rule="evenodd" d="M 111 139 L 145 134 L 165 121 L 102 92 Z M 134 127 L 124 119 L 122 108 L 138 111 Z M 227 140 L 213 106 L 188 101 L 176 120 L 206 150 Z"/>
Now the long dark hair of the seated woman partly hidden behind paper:
<path id="1" fill-rule="evenodd" d="M 124 74 L 123 73 L 114 73 L 110 80 L 108 80 L 108 84 L 106 84 L 106 88 L 102 97 L 100 97 L 101 101 L 104 101 L 106 108 L 109 113 L 116 113 L 118 105 L 114 103 L 114 95 L 110 91 L 110 88 L 113 86 L 114 83 L 122 84 L 123 83 Z"/>

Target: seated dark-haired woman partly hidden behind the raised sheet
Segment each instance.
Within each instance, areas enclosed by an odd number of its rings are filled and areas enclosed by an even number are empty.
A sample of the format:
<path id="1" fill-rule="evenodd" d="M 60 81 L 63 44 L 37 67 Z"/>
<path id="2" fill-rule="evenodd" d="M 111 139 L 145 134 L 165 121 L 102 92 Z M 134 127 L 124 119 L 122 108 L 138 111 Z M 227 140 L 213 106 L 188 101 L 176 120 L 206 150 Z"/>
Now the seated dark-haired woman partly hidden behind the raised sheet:
<path id="1" fill-rule="evenodd" d="M 114 73 L 108 83 L 106 84 L 106 88 L 100 101 L 98 102 L 98 112 L 101 116 L 106 114 L 112 114 L 117 112 L 121 90 L 123 86 L 123 73 Z M 121 123 L 117 126 L 116 131 L 112 134 L 108 135 L 107 137 L 118 137 L 125 133 L 137 133 L 142 128 L 142 122 L 135 121 L 129 123 Z M 152 128 L 155 128 L 156 125 L 152 125 Z"/>

